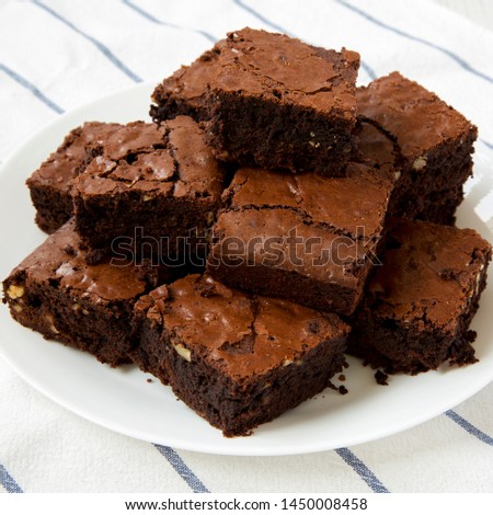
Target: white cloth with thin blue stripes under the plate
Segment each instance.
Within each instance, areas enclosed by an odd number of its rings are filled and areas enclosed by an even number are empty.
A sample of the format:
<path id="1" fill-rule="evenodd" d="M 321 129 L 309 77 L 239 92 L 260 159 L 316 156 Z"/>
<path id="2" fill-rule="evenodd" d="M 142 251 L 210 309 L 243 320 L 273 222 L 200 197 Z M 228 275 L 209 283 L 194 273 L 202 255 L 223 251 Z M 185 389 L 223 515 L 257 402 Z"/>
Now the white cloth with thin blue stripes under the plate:
<path id="1" fill-rule="evenodd" d="M 473 121 L 492 162 L 493 35 L 424 0 L 0 0 L 0 162 L 62 112 L 158 82 L 245 25 L 358 50 L 360 83 L 400 70 Z M 479 207 L 485 221 L 492 204 L 490 192 Z M 492 399 L 490 385 L 446 414 L 351 449 L 211 456 L 87 422 L 0 359 L 0 491 L 488 492 Z"/>

